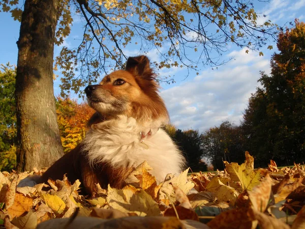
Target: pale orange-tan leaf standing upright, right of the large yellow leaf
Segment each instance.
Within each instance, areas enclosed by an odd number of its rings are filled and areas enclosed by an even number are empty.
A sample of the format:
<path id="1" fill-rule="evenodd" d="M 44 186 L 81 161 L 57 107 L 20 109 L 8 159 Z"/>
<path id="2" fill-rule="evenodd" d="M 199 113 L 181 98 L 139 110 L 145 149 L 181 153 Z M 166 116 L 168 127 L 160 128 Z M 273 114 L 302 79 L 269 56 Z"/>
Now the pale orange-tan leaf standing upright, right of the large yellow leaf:
<path id="1" fill-rule="evenodd" d="M 267 174 L 266 177 L 255 186 L 251 191 L 248 191 L 250 201 L 255 210 L 264 212 L 269 203 L 271 193 L 271 179 Z"/>

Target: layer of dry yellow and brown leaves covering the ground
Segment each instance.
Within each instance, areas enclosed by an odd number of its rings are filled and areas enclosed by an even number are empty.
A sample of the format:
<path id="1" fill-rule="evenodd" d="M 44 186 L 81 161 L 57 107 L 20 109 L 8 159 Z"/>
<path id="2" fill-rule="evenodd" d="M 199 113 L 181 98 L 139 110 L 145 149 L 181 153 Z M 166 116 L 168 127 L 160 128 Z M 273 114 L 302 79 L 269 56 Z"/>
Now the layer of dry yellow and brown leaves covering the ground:
<path id="1" fill-rule="evenodd" d="M 188 176 L 187 169 L 157 184 L 144 162 L 123 189 L 97 186 L 90 197 L 67 178 L 20 188 L 28 173 L 0 173 L 0 227 L 305 228 L 304 165 L 278 169 L 271 161 L 254 169 L 248 152 L 245 163 L 225 165 L 216 174 Z"/>

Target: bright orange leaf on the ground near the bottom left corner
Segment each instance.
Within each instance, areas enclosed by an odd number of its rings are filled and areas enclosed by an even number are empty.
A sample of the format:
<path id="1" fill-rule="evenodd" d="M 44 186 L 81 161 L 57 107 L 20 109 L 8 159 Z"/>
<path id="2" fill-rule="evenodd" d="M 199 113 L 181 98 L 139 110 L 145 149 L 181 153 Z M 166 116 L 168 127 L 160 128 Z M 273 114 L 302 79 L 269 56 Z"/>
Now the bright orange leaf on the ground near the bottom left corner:
<path id="1" fill-rule="evenodd" d="M 13 205 L 8 208 L 8 214 L 14 218 L 22 215 L 24 212 L 28 212 L 33 206 L 33 199 L 23 194 L 16 193 Z"/>

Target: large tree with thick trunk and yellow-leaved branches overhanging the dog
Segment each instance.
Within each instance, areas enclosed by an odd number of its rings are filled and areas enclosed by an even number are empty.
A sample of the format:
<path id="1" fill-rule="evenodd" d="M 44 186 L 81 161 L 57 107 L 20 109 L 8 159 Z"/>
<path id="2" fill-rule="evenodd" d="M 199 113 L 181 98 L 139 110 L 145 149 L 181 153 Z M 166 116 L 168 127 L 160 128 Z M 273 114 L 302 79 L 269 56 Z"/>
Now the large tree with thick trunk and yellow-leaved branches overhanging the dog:
<path id="1" fill-rule="evenodd" d="M 79 46 L 56 57 L 62 95 L 97 82 L 100 74 L 124 67 L 124 49 L 159 51 L 157 69 L 198 70 L 219 65 L 228 43 L 258 50 L 275 35 L 269 21 L 258 24 L 251 1 L 4 0 L 0 7 L 21 20 L 16 77 L 17 170 L 48 166 L 63 150 L 53 96 L 54 43 L 70 33 L 76 13 L 85 21 Z M 22 16 L 21 16 L 22 12 Z M 188 55 L 198 52 L 198 58 Z"/>

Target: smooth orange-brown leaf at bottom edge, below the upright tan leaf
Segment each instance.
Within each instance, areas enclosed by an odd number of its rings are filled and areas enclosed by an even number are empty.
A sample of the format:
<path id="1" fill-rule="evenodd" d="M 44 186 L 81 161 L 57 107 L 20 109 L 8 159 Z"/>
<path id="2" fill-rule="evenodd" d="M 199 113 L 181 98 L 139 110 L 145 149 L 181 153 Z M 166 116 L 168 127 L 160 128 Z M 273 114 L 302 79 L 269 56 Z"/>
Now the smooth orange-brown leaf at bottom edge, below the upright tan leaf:
<path id="1" fill-rule="evenodd" d="M 253 219 L 258 220 L 261 229 L 290 229 L 288 224 L 255 209 L 250 210 L 250 215 Z"/>

